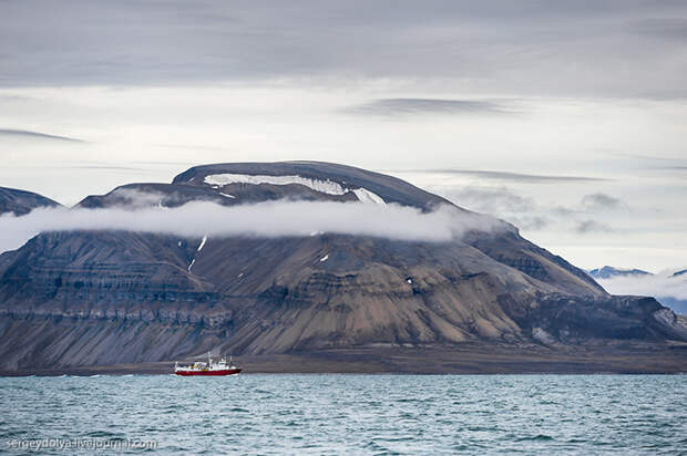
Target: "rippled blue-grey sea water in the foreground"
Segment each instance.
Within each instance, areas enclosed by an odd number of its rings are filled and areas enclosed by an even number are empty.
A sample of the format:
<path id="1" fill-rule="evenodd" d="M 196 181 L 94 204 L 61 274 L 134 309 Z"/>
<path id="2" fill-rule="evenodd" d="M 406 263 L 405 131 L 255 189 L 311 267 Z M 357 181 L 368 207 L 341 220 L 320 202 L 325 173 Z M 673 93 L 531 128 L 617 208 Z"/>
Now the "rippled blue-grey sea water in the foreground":
<path id="1" fill-rule="evenodd" d="M 211 455 L 687 452 L 681 375 L 4 377 L 0 398 L 0 453 L 49 439 Z M 102 449 L 117 452 L 142 449 Z"/>

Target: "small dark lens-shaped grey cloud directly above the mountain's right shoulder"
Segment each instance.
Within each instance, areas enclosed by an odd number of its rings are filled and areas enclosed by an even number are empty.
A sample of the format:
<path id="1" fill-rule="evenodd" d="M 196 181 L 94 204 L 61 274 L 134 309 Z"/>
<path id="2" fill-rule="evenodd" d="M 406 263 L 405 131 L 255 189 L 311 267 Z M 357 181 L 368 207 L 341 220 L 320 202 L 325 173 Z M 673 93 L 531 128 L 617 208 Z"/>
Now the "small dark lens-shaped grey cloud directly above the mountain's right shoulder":
<path id="1" fill-rule="evenodd" d="M 344 110 L 345 113 L 379 116 L 413 114 L 506 114 L 499 103 L 483 100 L 381 99 Z"/>

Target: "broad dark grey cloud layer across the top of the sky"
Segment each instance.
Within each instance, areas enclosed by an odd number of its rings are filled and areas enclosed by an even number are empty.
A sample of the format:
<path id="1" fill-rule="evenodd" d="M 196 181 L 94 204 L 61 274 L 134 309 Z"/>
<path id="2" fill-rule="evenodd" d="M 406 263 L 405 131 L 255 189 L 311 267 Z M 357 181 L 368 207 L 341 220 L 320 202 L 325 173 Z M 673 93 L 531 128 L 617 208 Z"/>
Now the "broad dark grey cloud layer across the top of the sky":
<path id="1" fill-rule="evenodd" d="M 684 96 L 670 69 L 685 43 L 653 38 L 683 25 L 646 18 L 685 15 L 615 0 L 6 1 L 0 85 L 440 79 L 471 94 Z"/>

